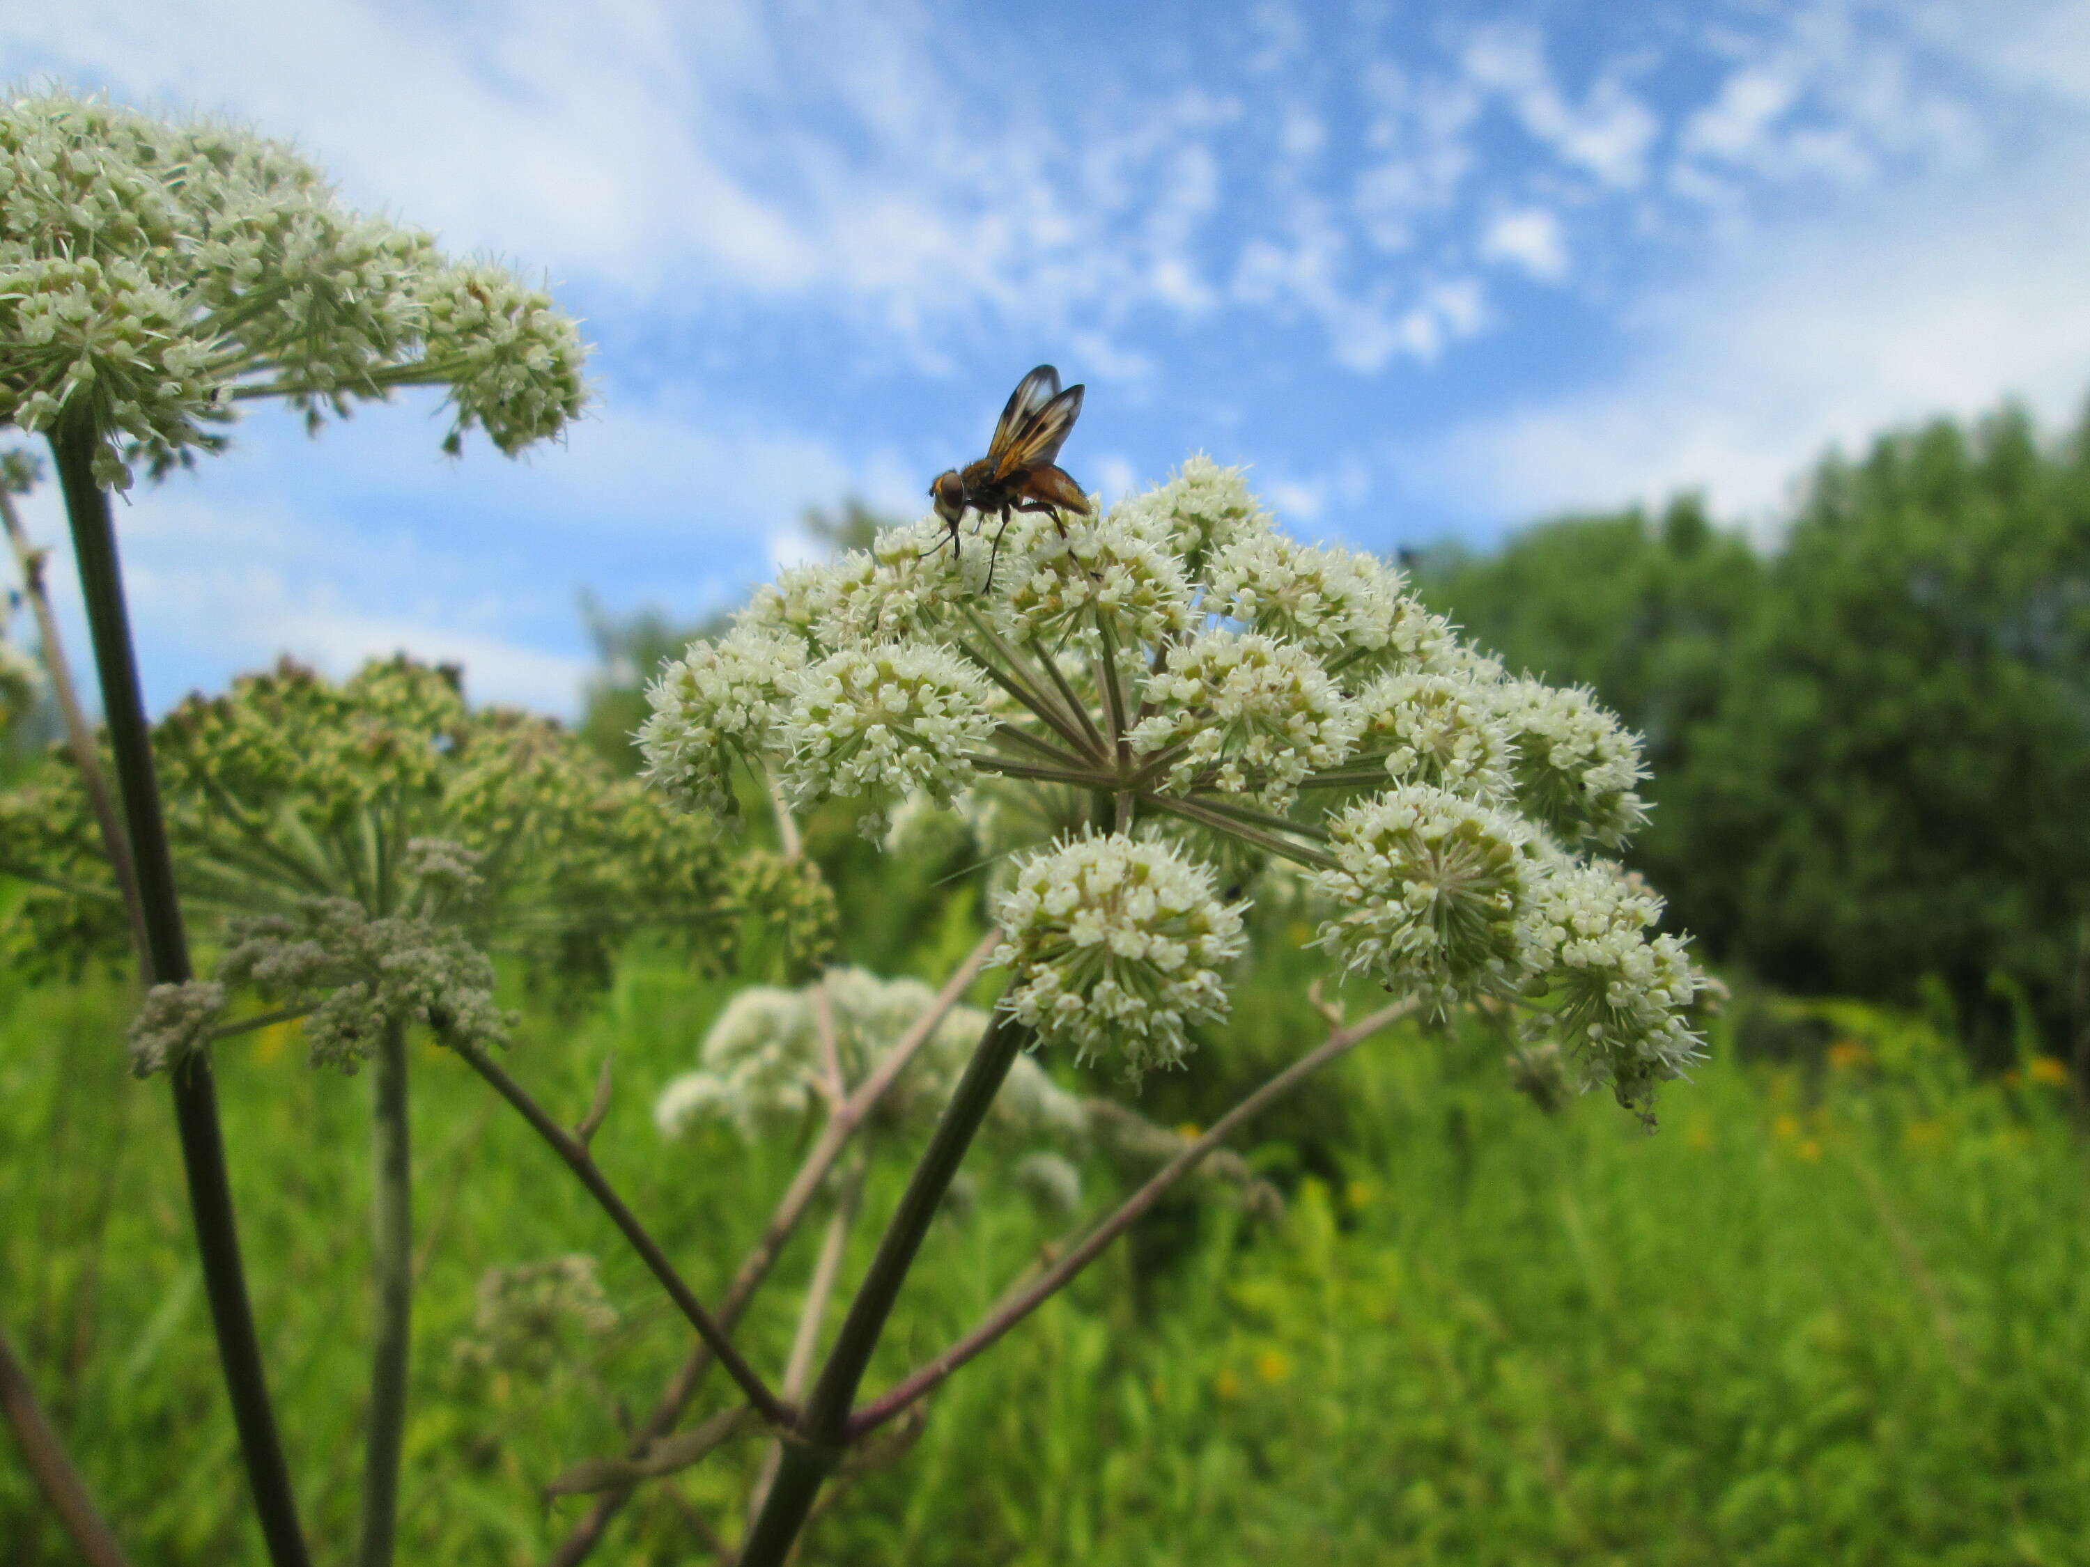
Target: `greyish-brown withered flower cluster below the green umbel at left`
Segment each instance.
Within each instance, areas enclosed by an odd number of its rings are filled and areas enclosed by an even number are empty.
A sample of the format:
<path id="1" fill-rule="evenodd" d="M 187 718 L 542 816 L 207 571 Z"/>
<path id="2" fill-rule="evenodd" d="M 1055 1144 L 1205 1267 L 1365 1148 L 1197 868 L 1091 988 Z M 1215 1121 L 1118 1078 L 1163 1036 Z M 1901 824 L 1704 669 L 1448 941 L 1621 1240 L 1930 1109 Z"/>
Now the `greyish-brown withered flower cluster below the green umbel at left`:
<path id="1" fill-rule="evenodd" d="M 508 1043 L 493 963 L 456 926 L 374 919 L 351 898 L 309 898 L 288 915 L 234 919 L 232 938 L 217 978 L 305 1011 L 314 1066 L 353 1074 L 387 1026 L 408 1022 L 445 1045 Z"/>

